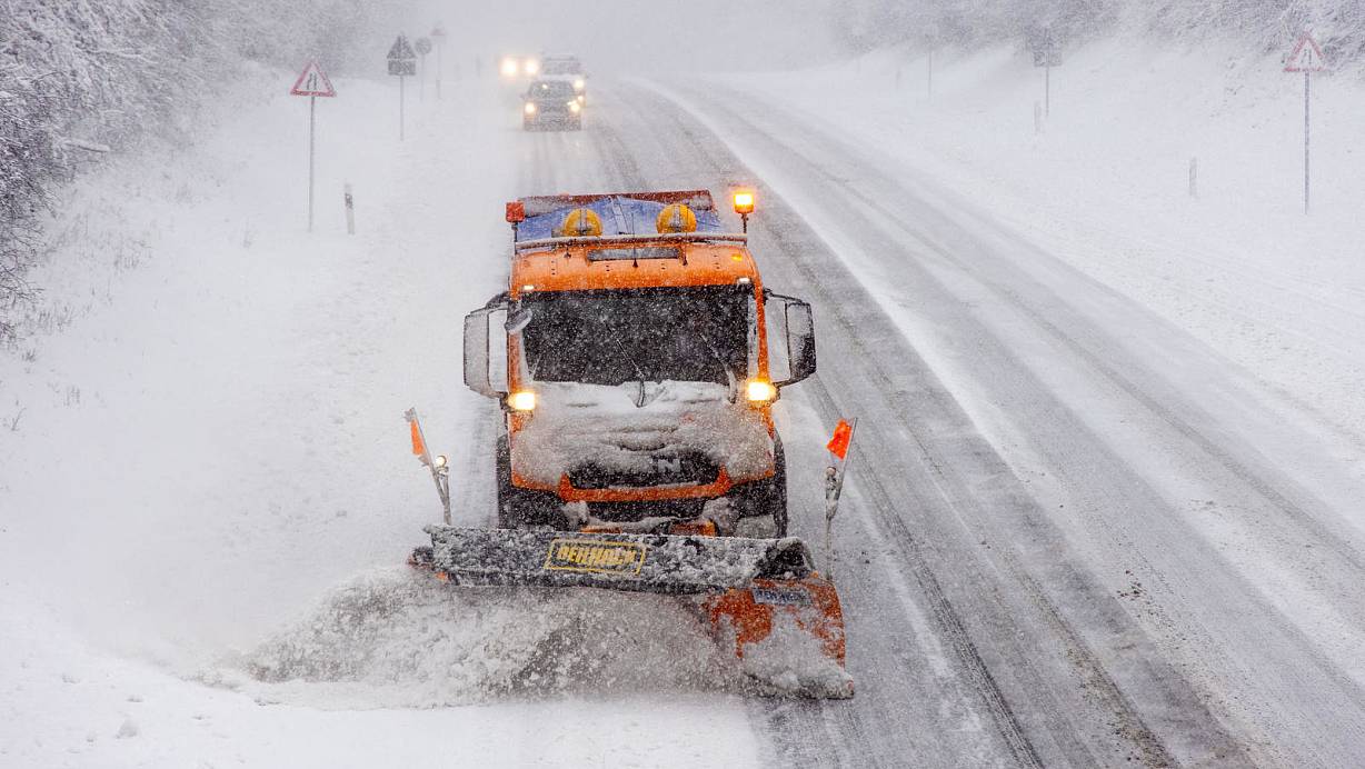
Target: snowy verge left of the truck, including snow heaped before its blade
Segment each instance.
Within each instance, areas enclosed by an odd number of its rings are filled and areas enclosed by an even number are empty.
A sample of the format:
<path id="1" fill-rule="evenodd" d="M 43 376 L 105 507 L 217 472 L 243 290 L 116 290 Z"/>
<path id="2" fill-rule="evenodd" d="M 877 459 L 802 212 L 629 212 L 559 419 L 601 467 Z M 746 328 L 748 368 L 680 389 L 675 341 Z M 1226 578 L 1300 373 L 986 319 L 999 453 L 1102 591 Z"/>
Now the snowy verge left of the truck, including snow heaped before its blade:
<path id="1" fill-rule="evenodd" d="M 625 609 L 400 566 L 440 515 L 405 408 L 455 449 L 459 522 L 491 517 L 460 316 L 505 281 L 523 136 L 448 82 L 410 91 L 400 145 L 393 83 L 339 79 L 308 236 L 288 83 L 248 72 L 195 146 L 111 164 L 51 221 L 40 333 L 0 353 L 0 765 L 756 762 L 740 699 L 657 667 L 707 669 L 695 626 L 561 654 Z"/>

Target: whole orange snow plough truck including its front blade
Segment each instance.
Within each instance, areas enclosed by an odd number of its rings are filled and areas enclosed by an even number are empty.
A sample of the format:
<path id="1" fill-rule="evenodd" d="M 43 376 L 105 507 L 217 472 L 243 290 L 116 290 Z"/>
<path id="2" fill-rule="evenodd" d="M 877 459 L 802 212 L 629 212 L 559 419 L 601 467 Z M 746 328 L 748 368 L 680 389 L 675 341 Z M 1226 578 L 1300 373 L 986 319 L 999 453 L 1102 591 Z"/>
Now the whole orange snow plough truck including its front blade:
<path id="1" fill-rule="evenodd" d="M 736 213 L 753 210 L 736 194 Z M 763 288 L 704 190 L 508 203 L 508 290 L 464 325 L 495 398 L 498 529 L 429 526 L 460 585 L 691 600 L 779 693 L 852 697 L 833 582 L 788 536 L 782 389 L 815 371 L 811 308 Z"/>

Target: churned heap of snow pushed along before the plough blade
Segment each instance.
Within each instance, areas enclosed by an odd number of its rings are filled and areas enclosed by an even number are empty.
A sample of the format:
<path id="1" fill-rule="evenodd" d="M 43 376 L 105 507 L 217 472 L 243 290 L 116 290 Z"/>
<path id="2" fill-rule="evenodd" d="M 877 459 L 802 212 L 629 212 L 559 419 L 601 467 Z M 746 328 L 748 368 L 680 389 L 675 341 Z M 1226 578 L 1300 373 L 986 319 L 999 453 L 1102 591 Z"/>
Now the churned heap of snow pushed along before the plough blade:
<path id="1" fill-rule="evenodd" d="M 410 569 L 337 588 L 236 660 L 258 699 L 434 708 L 516 695 L 753 691 L 685 599 L 610 590 L 452 590 Z"/>

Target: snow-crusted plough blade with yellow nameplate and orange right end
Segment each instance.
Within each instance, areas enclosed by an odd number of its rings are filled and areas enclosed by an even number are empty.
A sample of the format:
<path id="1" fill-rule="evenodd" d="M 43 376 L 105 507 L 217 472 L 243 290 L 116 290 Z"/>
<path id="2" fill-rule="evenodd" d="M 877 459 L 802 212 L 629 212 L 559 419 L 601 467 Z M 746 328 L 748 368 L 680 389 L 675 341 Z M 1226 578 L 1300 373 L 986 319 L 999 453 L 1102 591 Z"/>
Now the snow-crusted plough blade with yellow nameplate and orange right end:
<path id="1" fill-rule="evenodd" d="M 426 528 L 410 562 L 461 586 L 599 588 L 689 597 L 745 674 L 781 694 L 846 698 L 844 614 L 794 537 Z"/>

